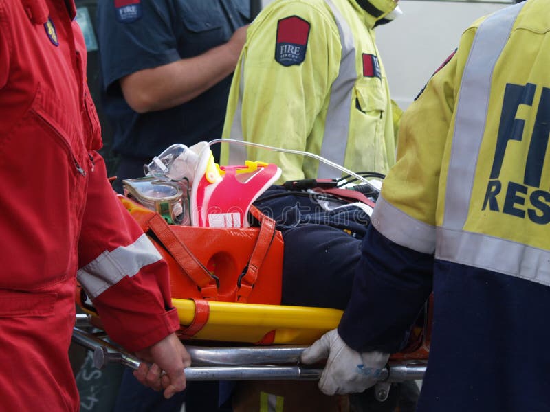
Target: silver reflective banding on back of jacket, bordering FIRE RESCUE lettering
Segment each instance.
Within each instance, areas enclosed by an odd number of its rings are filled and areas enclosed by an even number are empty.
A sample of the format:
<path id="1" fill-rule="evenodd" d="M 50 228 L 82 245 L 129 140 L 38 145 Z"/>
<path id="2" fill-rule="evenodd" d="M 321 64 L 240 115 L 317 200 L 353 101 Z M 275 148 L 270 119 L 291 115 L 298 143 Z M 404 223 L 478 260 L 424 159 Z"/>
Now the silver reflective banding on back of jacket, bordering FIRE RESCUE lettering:
<path id="1" fill-rule="evenodd" d="M 485 132 L 494 66 L 524 5 L 518 3 L 489 16 L 472 43 L 456 108 L 445 216 L 443 226 L 437 228 L 435 257 L 550 286 L 550 251 L 463 230 Z"/>

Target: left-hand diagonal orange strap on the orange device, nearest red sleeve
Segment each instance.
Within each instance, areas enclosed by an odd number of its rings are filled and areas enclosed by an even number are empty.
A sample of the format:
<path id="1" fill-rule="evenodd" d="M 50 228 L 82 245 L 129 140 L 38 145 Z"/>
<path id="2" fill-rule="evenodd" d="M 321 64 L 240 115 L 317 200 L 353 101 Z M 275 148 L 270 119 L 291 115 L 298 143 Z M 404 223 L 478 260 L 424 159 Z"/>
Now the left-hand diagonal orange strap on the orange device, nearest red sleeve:
<path id="1" fill-rule="evenodd" d="M 147 220 L 147 225 L 155 233 L 170 255 L 172 255 L 177 264 L 184 270 L 184 273 L 199 286 L 202 297 L 204 299 L 216 300 L 218 297 L 216 279 L 195 258 L 195 255 L 190 252 L 184 242 L 181 242 L 175 236 L 168 223 L 159 214 L 153 214 Z"/>

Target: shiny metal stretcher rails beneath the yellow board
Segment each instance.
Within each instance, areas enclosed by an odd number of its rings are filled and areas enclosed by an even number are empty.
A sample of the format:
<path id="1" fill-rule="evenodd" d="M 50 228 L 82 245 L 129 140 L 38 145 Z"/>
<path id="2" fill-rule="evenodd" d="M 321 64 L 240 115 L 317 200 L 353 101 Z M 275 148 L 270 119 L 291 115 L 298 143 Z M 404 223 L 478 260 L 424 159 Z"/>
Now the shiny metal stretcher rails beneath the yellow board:
<path id="1" fill-rule="evenodd" d="M 107 363 L 122 363 L 137 369 L 140 360 L 104 339 L 78 328 L 86 325 L 87 315 L 77 315 L 72 340 L 94 351 L 94 365 L 101 369 Z M 201 347 L 186 345 L 192 364 L 185 369 L 186 379 L 196 380 L 318 380 L 320 367 L 297 365 L 306 346 L 274 347 Z M 287 364 L 287 365 L 283 365 Z M 419 380 L 426 362 L 390 363 L 380 375 L 381 382 Z"/>

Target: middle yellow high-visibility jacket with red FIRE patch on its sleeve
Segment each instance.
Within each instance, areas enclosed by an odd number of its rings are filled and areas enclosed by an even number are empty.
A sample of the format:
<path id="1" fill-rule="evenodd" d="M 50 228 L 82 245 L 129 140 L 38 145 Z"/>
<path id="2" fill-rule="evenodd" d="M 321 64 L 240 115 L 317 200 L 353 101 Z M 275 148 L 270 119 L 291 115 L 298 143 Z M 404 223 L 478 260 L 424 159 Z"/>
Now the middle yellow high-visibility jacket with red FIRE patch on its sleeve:
<path id="1" fill-rule="evenodd" d="M 395 8 L 371 0 L 283 0 L 249 27 L 223 137 L 321 155 L 358 171 L 395 161 L 394 110 L 373 27 Z M 375 16 L 373 15 L 375 14 Z M 309 157 L 223 144 L 221 163 L 276 163 L 287 179 L 342 175 Z"/>

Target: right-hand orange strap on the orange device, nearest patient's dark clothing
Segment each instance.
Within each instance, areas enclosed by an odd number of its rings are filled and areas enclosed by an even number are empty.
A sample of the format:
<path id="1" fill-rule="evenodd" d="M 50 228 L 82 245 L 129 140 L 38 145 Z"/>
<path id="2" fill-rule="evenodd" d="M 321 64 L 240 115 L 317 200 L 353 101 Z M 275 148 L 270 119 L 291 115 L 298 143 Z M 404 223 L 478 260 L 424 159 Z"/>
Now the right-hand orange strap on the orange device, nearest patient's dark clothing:
<path id="1" fill-rule="evenodd" d="M 258 239 L 248 260 L 248 266 L 246 273 L 239 278 L 239 290 L 237 290 L 237 301 L 246 303 L 248 296 L 254 288 L 256 279 L 258 279 L 258 272 L 260 266 L 262 266 L 263 260 L 270 250 L 275 236 L 275 220 L 263 214 L 255 206 L 250 206 L 250 214 L 260 222 L 260 231 L 258 233 Z"/>

